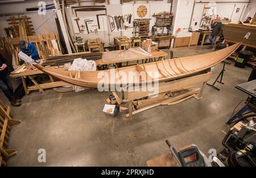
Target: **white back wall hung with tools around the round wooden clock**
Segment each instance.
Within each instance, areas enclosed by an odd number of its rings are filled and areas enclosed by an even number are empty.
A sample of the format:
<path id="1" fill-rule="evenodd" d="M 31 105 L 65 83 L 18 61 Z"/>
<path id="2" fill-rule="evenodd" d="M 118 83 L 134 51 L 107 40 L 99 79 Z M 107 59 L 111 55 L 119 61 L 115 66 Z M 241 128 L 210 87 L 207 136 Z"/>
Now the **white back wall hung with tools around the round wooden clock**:
<path id="1" fill-rule="evenodd" d="M 165 2 L 169 2 L 169 1 L 158 1 L 158 2 L 150 2 L 150 3 L 145 3 L 145 2 L 138 2 L 136 4 L 134 4 L 133 2 L 129 2 L 129 3 L 123 3 L 123 5 L 121 5 L 119 3 L 120 1 L 110 1 L 110 5 L 106 5 L 106 14 L 107 15 L 111 15 L 111 16 L 118 16 L 118 15 L 123 15 L 125 16 L 126 14 L 132 14 L 133 16 L 131 16 L 131 23 L 129 24 L 128 22 L 125 22 L 124 25 L 126 26 L 133 26 L 133 20 L 134 18 L 138 18 L 137 15 L 137 8 L 139 5 L 145 5 L 148 9 L 147 12 L 147 16 L 144 18 L 150 18 L 150 31 L 151 31 L 151 27 L 154 26 L 155 24 L 155 18 L 152 16 L 154 13 L 158 13 L 158 12 L 163 12 L 163 11 L 168 11 L 170 12 L 171 9 L 171 3 L 165 3 Z M 103 3 L 104 4 L 104 3 Z M 89 3 L 81 3 L 81 6 L 84 5 L 90 5 Z M 96 5 L 102 5 L 102 3 L 98 3 Z M 72 6 L 77 6 L 77 4 L 72 5 Z M 79 14 L 76 14 L 74 12 L 72 12 L 71 7 L 66 8 L 67 10 L 67 16 L 68 16 L 68 23 L 69 23 L 69 27 L 71 27 L 71 32 L 73 34 L 73 36 L 80 36 L 83 39 L 87 40 L 87 39 L 95 39 L 97 37 L 99 37 L 102 41 L 102 43 L 104 43 L 105 47 L 109 46 L 109 45 L 113 45 L 114 44 L 114 37 L 116 36 L 127 36 L 127 37 L 131 37 L 133 36 L 133 28 L 127 28 L 125 29 L 119 29 L 117 30 L 117 28 L 114 29 L 113 32 L 110 31 L 110 27 L 109 27 L 109 22 L 108 19 L 106 19 L 106 23 L 105 26 L 107 28 L 105 28 L 105 31 L 98 31 L 97 34 L 95 34 L 94 32 L 87 34 L 85 33 L 77 33 L 79 31 L 79 29 L 77 29 L 77 24 L 75 22 L 75 18 L 79 17 L 82 18 L 81 22 L 79 21 L 79 25 L 81 26 L 82 24 L 84 24 L 84 22 L 82 22 L 84 20 L 84 18 L 91 18 L 93 19 L 93 13 L 89 16 L 86 13 L 81 14 L 81 16 L 79 16 Z M 97 11 L 96 14 L 101 14 L 99 11 Z M 96 18 L 96 14 L 94 14 L 95 18 Z M 71 19 L 74 22 L 71 22 Z M 95 19 L 94 19 L 95 20 Z M 101 24 L 102 25 L 102 24 Z M 159 29 L 160 30 L 160 29 Z M 164 31 L 166 32 L 166 30 Z M 150 33 L 149 33 L 150 35 Z"/>

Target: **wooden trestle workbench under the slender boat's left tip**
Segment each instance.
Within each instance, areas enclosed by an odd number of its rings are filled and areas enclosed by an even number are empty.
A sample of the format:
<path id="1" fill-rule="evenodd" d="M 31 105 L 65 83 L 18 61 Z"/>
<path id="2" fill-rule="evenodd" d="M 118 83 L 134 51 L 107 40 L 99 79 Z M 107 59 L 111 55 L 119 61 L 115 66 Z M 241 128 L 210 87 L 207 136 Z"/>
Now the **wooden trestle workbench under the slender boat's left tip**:
<path id="1" fill-rule="evenodd" d="M 32 76 L 36 75 L 36 74 L 44 74 L 43 71 L 38 70 L 36 67 L 34 67 L 32 65 L 26 66 L 25 69 L 26 70 L 24 70 L 18 74 L 11 74 L 10 77 L 12 77 L 12 78 L 20 77 L 22 79 L 22 84 L 23 84 L 24 91 L 25 91 L 26 95 L 30 94 L 30 92 L 33 90 L 39 90 L 40 92 L 42 92 L 42 94 L 44 94 L 44 89 L 46 89 L 46 88 L 53 88 L 53 87 L 60 87 L 60 86 L 68 85 L 68 83 L 62 82 L 62 81 L 54 82 L 53 78 L 51 76 L 49 76 L 51 82 L 39 84 L 38 82 L 36 82 L 36 80 Z M 48 69 L 54 69 L 56 71 L 64 70 L 64 68 L 55 69 L 54 66 L 48 67 Z M 14 70 L 14 72 L 15 71 L 16 70 Z M 26 80 L 25 80 L 26 77 L 28 77 L 35 85 L 27 87 Z"/>

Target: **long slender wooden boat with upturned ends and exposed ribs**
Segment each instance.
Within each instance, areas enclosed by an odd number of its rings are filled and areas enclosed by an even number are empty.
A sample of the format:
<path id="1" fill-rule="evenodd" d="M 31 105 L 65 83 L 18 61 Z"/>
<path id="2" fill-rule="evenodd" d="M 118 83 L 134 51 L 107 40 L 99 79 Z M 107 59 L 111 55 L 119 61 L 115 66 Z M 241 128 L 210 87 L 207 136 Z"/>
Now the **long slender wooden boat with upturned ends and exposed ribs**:
<path id="1" fill-rule="evenodd" d="M 101 71 L 60 71 L 55 69 L 49 70 L 38 64 L 34 64 L 34 66 L 52 77 L 76 86 L 89 88 L 127 86 L 128 84 L 165 82 L 200 73 L 225 60 L 240 45 L 241 43 L 237 43 L 212 53 L 191 57 L 174 58 Z M 129 76 L 130 73 L 134 75 Z M 141 75 L 141 73 L 144 73 L 144 75 Z"/>

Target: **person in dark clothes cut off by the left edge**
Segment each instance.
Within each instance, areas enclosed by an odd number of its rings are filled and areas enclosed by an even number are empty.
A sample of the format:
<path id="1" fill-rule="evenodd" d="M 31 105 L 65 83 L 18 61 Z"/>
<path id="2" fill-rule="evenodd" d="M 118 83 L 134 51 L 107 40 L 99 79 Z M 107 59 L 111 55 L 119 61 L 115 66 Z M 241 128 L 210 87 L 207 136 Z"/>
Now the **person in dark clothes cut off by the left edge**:
<path id="1" fill-rule="evenodd" d="M 18 107 L 21 105 L 21 101 L 15 99 L 13 86 L 11 86 L 11 81 L 9 75 L 7 74 L 7 61 L 3 56 L 0 54 L 0 88 L 3 91 L 3 94 L 9 99 L 12 105 Z"/>

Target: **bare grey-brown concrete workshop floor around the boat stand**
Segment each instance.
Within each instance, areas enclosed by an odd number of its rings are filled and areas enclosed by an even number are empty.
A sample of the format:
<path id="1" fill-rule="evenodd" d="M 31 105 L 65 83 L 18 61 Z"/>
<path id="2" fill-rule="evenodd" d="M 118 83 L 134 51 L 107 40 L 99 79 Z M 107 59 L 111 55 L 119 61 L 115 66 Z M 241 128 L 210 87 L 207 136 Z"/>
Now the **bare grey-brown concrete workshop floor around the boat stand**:
<path id="1" fill-rule="evenodd" d="M 173 51 L 174 57 L 182 57 L 211 50 L 196 46 Z M 209 83 L 221 69 L 222 63 L 214 67 Z M 177 148 L 195 143 L 208 155 L 209 149 L 221 147 L 221 130 L 228 129 L 225 122 L 246 99 L 234 87 L 246 82 L 250 71 L 251 67 L 240 69 L 232 62 L 226 66 L 225 84 L 217 84 L 220 91 L 207 86 L 203 99 L 155 107 L 133 119 L 121 113 L 104 115 L 109 92 L 32 92 L 24 96 L 22 106 L 13 108 L 14 118 L 22 123 L 11 130 L 9 149 L 18 154 L 8 166 L 146 166 L 147 160 L 168 152 L 166 139 Z M 38 162 L 39 149 L 46 150 L 46 163 Z"/>

